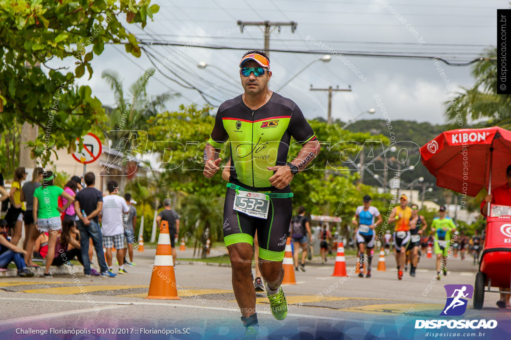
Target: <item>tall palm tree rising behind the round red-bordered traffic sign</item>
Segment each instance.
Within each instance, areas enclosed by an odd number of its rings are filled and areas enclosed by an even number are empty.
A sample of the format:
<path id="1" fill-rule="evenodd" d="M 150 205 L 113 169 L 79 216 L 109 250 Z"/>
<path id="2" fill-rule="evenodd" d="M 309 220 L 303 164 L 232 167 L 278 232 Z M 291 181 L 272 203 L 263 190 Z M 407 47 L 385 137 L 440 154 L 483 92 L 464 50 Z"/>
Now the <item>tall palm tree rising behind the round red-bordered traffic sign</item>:
<path id="1" fill-rule="evenodd" d="M 148 96 L 147 84 L 154 74 L 154 69 L 148 69 L 128 89 L 126 96 L 122 77 L 116 71 L 105 70 L 101 77 L 105 79 L 115 95 L 116 108 L 105 108 L 108 115 L 108 125 L 112 130 L 113 145 L 118 145 L 122 138 L 129 138 L 129 130 L 145 130 L 149 127 L 147 120 L 165 110 L 165 104 L 170 99 L 180 96 L 179 93 L 163 92 Z M 129 147 L 129 144 L 126 145 Z"/>

